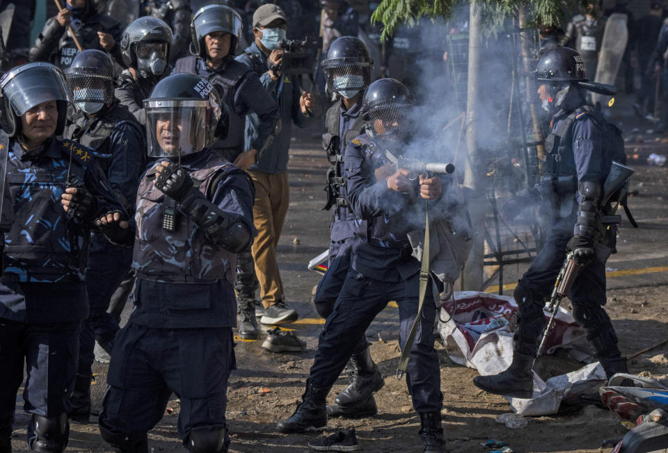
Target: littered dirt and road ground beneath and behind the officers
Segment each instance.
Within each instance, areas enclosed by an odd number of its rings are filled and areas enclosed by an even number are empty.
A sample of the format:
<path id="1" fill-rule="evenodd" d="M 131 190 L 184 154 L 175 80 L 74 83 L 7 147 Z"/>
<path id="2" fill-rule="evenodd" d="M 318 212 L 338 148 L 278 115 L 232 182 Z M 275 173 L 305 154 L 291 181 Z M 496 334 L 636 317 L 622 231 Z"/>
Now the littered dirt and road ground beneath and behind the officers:
<path id="1" fill-rule="evenodd" d="M 650 126 L 639 120 L 621 117 L 619 121 L 626 123 L 623 127 L 628 136 L 630 165 L 636 169 L 632 189 L 637 190 L 637 195 L 631 199 L 630 206 L 641 228 L 631 229 L 626 219 L 623 220 L 619 254 L 607 263 L 610 276 L 607 310 L 617 329 L 623 354 L 633 354 L 668 338 L 668 206 L 665 201 L 668 167 L 646 165 L 646 157 L 651 152 L 668 154 L 668 145 L 661 141 L 661 136 L 644 133 Z M 311 290 L 319 276 L 306 270 L 306 263 L 327 245 L 329 214 L 320 211 L 324 204 L 321 188 L 327 164 L 317 140 L 312 138 L 315 131 L 306 132 L 303 139 L 294 141 L 291 151 L 291 202 L 278 252 L 288 303 L 299 311 L 301 318 L 290 327 L 307 341 L 308 347 L 299 354 L 270 354 L 260 349 L 262 338 L 254 342 L 239 341 L 238 370 L 232 374 L 228 391 L 232 452 L 308 451 L 308 440 L 317 436 L 284 435 L 274 429 L 278 420 L 294 411 L 301 398 L 321 330 L 321 321 L 310 304 Z M 504 281 L 514 281 L 525 267 L 516 266 L 516 275 L 505 277 Z M 388 306 L 367 331 L 372 356 L 385 377 L 385 386 L 376 393 L 378 415 L 360 420 L 330 420 L 324 431 L 331 434 L 342 427 L 354 427 L 366 452 L 422 451 L 417 435 L 419 418 L 413 411 L 405 381 L 395 378 L 399 359 L 397 318 L 397 309 Z M 472 384 L 477 372 L 452 363 L 440 341 L 436 347 L 441 363 L 445 397 L 443 424 L 449 452 L 488 452 L 490 449 L 481 445 L 488 438 L 504 440 L 516 452 L 607 452 L 610 448 L 601 449 L 601 441 L 621 437 L 626 432 L 610 411 L 595 406 L 562 406 L 557 415 L 530 418 L 526 428 L 509 429 L 495 422 L 498 415 L 509 412 L 507 402 L 478 390 Z M 633 373 L 647 376 L 668 374 L 668 347 L 664 345 L 641 354 L 630 361 L 629 368 Z M 106 386 L 106 365 L 96 363 L 95 371 L 93 404 L 99 406 Z M 345 385 L 342 376 L 329 395 L 330 401 Z M 183 449 L 176 430 L 178 412 L 178 400 L 171 401 L 168 413 L 150 432 L 152 452 Z M 27 420 L 19 395 L 15 452 L 26 451 L 24 427 Z M 110 451 L 95 424 L 72 425 L 68 450 Z"/>

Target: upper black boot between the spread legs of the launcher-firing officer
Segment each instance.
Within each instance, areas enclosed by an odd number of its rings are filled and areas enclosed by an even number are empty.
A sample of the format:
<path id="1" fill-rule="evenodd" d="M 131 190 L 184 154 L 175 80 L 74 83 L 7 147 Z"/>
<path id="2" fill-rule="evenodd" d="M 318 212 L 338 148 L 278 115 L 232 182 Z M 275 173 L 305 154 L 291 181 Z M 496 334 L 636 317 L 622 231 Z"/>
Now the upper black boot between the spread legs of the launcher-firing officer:
<path id="1" fill-rule="evenodd" d="M 368 345 L 362 352 L 350 357 L 346 372 L 349 384 L 335 397 L 334 402 L 338 406 L 351 408 L 363 404 L 367 402 L 369 396 L 372 396 L 374 392 L 385 385 L 385 379 L 383 379 L 381 371 L 371 359 Z"/>

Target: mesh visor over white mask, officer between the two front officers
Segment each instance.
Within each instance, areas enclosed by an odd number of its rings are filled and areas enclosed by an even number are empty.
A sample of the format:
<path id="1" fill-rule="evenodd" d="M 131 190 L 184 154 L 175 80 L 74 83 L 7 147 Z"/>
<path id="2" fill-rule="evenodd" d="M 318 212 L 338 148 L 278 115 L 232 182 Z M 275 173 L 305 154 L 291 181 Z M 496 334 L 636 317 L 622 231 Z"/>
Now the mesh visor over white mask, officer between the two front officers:
<path id="1" fill-rule="evenodd" d="M 67 88 L 72 94 L 72 101 L 113 102 L 113 74 L 97 67 L 68 67 L 65 69 Z"/>

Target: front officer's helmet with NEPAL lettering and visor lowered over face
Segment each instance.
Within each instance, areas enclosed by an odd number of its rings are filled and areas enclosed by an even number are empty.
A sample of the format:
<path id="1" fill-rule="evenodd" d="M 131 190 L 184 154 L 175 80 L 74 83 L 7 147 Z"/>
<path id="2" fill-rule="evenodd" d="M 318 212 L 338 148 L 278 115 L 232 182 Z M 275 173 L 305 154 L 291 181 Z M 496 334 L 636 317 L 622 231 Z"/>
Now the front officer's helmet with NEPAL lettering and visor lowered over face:
<path id="1" fill-rule="evenodd" d="M 152 157 L 194 154 L 227 135 L 227 106 L 214 85 L 195 74 L 166 76 L 145 99 L 144 110 Z"/>

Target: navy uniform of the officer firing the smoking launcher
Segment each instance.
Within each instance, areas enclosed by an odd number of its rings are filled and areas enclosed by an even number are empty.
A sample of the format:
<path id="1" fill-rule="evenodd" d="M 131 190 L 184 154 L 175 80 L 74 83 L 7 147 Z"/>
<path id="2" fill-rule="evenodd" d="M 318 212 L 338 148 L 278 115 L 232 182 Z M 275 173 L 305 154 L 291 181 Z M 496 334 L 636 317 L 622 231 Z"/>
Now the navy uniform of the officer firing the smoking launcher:
<path id="1" fill-rule="evenodd" d="M 344 169 L 348 201 L 353 213 L 369 222 L 369 237 L 352 249 L 351 267 L 337 298 L 334 311 L 320 334 L 310 384 L 331 388 L 343 370 L 360 332 L 390 300 L 399 305 L 399 345 L 403 349 L 417 314 L 420 262 L 411 256 L 406 233 L 418 227 L 408 212 L 415 212 L 415 195 L 388 189 L 385 180 L 376 181 L 374 170 L 380 161 L 366 146 L 364 136 L 347 145 Z M 420 219 L 419 216 L 415 216 Z M 424 219 L 424 217 L 422 217 Z M 408 392 L 420 413 L 440 411 L 440 367 L 434 349 L 436 307 L 428 285 L 420 327 L 406 370 Z"/>

